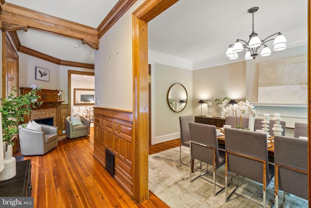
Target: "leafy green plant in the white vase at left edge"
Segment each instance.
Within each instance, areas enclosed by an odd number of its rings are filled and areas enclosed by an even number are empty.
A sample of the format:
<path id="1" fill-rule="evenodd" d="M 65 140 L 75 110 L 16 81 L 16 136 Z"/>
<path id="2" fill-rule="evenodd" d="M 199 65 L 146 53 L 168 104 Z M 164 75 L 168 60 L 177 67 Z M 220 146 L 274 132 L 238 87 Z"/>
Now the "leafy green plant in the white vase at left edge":
<path id="1" fill-rule="evenodd" d="M 2 107 L 0 113 L 2 114 L 2 141 L 5 142 L 5 151 L 8 145 L 14 145 L 13 139 L 18 134 L 18 125 L 24 121 L 25 115 L 31 113 L 32 108 L 36 108 L 36 104 L 40 105 L 42 102 L 37 100 L 40 98 L 36 92 L 40 91 L 41 87 L 33 87 L 33 89 L 26 95 L 15 96 L 17 90 L 12 87 L 12 92 L 6 98 L 1 98 Z"/>

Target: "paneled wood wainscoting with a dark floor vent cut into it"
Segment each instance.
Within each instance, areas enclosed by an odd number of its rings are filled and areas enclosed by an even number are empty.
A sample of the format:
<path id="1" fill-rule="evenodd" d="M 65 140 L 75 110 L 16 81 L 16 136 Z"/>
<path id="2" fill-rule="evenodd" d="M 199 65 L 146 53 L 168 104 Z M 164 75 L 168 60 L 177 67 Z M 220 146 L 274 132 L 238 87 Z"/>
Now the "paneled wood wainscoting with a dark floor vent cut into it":
<path id="1" fill-rule="evenodd" d="M 105 167 L 105 151 L 115 154 L 115 180 L 133 197 L 133 113 L 94 108 L 94 158 Z"/>

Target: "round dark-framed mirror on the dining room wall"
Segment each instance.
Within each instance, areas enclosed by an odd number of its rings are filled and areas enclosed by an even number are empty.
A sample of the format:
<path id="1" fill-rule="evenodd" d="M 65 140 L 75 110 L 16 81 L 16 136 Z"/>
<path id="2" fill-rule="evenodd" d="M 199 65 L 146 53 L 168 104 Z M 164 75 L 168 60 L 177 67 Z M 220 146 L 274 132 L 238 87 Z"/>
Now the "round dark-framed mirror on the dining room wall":
<path id="1" fill-rule="evenodd" d="M 187 90 L 182 84 L 175 83 L 169 88 L 166 99 L 172 111 L 181 112 L 187 105 Z"/>

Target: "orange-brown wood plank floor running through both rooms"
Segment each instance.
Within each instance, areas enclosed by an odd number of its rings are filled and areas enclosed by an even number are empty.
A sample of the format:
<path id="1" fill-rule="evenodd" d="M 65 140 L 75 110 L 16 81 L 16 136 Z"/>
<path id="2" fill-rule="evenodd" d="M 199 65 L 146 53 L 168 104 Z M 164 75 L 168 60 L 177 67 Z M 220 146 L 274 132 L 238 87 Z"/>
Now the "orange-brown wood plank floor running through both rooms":
<path id="1" fill-rule="evenodd" d="M 179 146 L 179 139 L 149 147 L 149 154 Z M 35 208 L 168 208 L 149 191 L 149 199 L 133 201 L 93 158 L 91 135 L 59 141 L 57 148 L 32 161 Z"/>

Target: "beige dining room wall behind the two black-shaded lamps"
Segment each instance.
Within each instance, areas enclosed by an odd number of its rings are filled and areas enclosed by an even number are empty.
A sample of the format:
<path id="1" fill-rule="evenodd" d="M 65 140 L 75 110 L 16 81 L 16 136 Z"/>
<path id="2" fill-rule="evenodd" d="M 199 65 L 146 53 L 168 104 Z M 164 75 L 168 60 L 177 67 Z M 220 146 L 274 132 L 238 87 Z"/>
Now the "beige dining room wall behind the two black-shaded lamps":
<path id="1" fill-rule="evenodd" d="M 193 71 L 193 114 L 201 115 L 200 99 L 212 102 L 212 115 L 220 117 L 216 98 L 246 98 L 246 64 L 245 61 L 215 66 Z M 207 105 L 202 104 L 202 115 L 206 115 Z"/>

